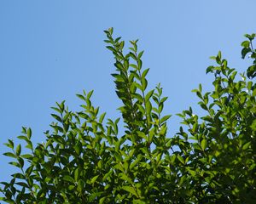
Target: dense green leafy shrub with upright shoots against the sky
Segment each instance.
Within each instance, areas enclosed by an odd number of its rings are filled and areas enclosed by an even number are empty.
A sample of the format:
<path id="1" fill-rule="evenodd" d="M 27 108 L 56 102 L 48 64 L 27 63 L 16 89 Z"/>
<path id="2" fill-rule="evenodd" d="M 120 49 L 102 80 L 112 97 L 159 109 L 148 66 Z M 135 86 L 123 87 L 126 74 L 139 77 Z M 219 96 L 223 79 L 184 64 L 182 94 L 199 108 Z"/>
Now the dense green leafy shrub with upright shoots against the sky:
<path id="1" fill-rule="evenodd" d="M 9 203 L 253 203 L 256 200 L 256 49 L 253 35 L 241 43 L 242 58 L 252 65 L 241 80 L 219 52 L 212 92 L 193 90 L 206 111 L 199 117 L 183 111 L 183 127 L 167 137 L 163 116 L 167 97 L 158 85 L 148 90 L 143 52 L 105 31 L 113 52 L 116 94 L 122 101 L 119 119 L 91 104 L 89 93 L 77 94 L 83 111 L 56 103 L 55 122 L 43 144 L 32 143 L 31 128 L 22 127 L 21 145 L 6 144 L 19 172 L 1 182 L 2 200 Z M 123 130 L 124 129 L 124 130 Z"/>

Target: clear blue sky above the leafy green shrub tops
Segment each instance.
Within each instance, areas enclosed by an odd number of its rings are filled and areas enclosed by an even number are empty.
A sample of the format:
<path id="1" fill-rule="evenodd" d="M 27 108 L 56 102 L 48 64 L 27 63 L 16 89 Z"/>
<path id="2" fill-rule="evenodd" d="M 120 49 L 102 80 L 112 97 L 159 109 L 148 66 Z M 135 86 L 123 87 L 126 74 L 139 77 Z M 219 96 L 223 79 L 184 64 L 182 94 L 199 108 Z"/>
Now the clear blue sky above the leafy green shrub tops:
<path id="1" fill-rule="evenodd" d="M 161 82 L 165 113 L 175 115 L 198 99 L 191 90 L 212 89 L 206 75 L 210 56 L 221 50 L 230 67 L 246 71 L 240 43 L 255 32 L 255 0 L 2 0 L 0 1 L 0 181 L 9 180 L 14 167 L 3 156 L 7 139 L 32 127 L 32 140 L 44 141 L 53 121 L 55 102 L 65 99 L 72 111 L 83 89 L 94 90 L 94 105 L 119 116 L 114 93 L 113 54 L 105 48 L 103 30 L 113 26 L 114 36 L 139 39 L 143 67 L 150 68 L 148 87 Z M 127 44 L 126 44 L 127 45 Z M 180 119 L 168 122 L 169 137 Z"/>

